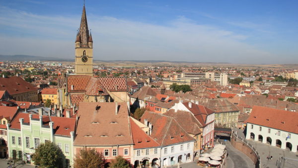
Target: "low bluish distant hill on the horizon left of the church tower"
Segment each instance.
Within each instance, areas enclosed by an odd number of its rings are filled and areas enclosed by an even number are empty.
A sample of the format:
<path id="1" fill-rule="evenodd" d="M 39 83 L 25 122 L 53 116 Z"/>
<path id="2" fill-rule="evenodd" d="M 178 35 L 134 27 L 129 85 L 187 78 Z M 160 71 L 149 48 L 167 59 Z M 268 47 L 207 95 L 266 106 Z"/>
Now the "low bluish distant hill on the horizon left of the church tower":
<path id="1" fill-rule="evenodd" d="M 69 61 L 54 57 L 40 57 L 30 55 L 0 55 L 0 61 Z M 72 60 L 74 61 L 74 60 Z"/>

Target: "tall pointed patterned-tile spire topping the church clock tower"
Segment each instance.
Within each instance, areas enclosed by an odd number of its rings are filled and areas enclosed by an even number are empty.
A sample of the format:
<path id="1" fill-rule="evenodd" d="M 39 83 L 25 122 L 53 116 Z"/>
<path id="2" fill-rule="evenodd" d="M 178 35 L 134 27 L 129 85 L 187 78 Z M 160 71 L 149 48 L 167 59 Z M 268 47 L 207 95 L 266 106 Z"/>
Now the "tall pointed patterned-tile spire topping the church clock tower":
<path id="1" fill-rule="evenodd" d="M 82 12 L 81 22 L 79 26 L 79 36 L 81 40 L 81 46 L 85 48 L 88 47 L 89 31 L 88 31 L 85 4 L 83 5 L 83 12 Z"/>

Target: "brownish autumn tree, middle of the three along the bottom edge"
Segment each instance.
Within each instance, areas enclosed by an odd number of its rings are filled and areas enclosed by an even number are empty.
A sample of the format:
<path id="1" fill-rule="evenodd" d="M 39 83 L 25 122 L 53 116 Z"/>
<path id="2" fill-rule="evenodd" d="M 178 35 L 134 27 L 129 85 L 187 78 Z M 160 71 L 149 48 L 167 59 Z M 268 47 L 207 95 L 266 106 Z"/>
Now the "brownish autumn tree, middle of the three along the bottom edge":
<path id="1" fill-rule="evenodd" d="M 82 148 L 74 158 L 74 168 L 104 168 L 106 160 L 95 149 Z"/>

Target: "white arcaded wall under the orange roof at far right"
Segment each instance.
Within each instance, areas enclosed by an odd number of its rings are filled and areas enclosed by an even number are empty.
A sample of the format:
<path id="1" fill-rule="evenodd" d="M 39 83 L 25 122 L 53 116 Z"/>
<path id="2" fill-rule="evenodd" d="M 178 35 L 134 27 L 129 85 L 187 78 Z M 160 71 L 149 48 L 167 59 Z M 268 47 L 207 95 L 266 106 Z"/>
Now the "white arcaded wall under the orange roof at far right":
<path id="1" fill-rule="evenodd" d="M 253 126 L 252 126 L 253 125 Z M 261 127 L 261 131 L 260 131 Z M 292 152 L 297 152 L 298 148 L 298 134 L 283 131 L 283 130 L 278 130 L 274 128 L 269 128 L 261 125 L 256 125 L 256 124 L 251 124 L 247 123 L 246 126 L 247 133 L 246 133 L 246 139 L 253 139 L 254 141 L 259 141 L 259 135 L 262 136 L 262 143 L 267 143 L 267 137 L 271 138 L 271 146 L 277 146 L 276 140 L 281 141 L 281 149 L 286 149 L 287 148 L 287 143 L 292 144 Z M 268 131 L 270 129 L 270 133 Z M 251 133 L 254 134 L 254 138 L 251 138 Z M 287 138 L 288 135 L 291 134 L 291 138 Z"/>

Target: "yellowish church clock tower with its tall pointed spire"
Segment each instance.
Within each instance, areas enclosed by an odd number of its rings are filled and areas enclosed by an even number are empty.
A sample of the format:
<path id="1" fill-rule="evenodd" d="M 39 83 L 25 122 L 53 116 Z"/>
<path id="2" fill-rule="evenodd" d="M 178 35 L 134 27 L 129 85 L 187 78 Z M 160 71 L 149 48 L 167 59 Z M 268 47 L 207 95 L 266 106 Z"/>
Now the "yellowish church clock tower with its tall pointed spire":
<path id="1" fill-rule="evenodd" d="M 89 34 L 85 4 L 81 23 L 75 38 L 75 75 L 93 76 L 92 36 Z"/>

